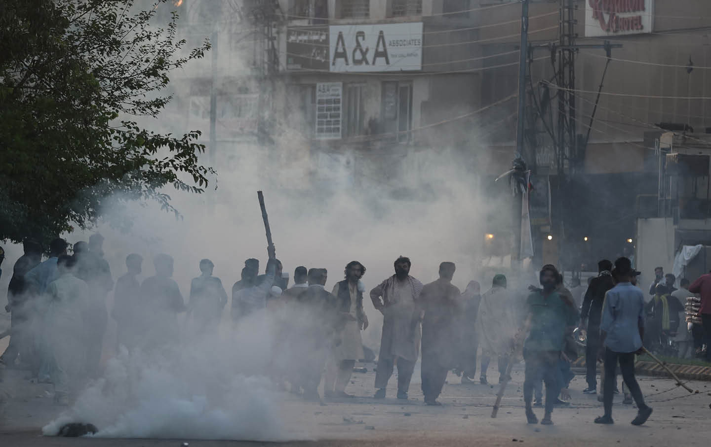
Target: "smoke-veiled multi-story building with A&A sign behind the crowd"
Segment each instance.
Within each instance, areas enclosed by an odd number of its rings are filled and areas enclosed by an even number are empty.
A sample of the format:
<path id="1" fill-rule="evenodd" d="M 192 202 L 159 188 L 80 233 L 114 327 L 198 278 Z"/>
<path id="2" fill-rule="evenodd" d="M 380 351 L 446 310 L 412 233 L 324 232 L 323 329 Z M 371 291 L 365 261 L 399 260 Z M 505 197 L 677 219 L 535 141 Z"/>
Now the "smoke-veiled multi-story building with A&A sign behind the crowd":
<path id="1" fill-rule="evenodd" d="M 520 1 L 178 3 L 181 32 L 217 45 L 176 76 L 189 92 L 176 119 L 205 130 L 220 164 L 238 162 L 235 144 L 277 143 L 321 168 L 292 186 L 387 186 L 447 150 L 484 194 L 506 189 L 492 185 L 515 156 Z M 592 268 L 634 248 L 637 196 L 658 193 L 664 167 L 646 132 L 709 126 L 710 18 L 695 0 L 530 1 L 521 118 L 539 260 Z M 516 222 L 494 213 L 486 233 L 506 239 Z"/>

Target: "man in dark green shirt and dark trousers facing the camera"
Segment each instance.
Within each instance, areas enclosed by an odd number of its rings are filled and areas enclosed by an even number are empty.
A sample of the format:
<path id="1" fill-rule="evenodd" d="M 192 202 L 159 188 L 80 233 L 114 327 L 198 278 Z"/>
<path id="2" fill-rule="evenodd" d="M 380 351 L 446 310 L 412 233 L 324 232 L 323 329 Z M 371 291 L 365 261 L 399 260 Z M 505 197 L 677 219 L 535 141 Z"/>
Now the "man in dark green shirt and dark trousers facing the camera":
<path id="1" fill-rule="evenodd" d="M 540 271 L 542 290 L 535 290 L 526 299 L 528 337 L 523 343 L 525 382 L 523 399 L 529 424 L 538 424 L 531 401 L 536 383 L 545 382 L 545 416 L 540 421 L 552 425 L 553 404 L 560 390 L 557 385 L 557 368 L 560 352 L 565 346 L 565 336 L 572 333 L 578 313 L 571 299 L 562 297 L 555 289 L 558 271 L 553 265 L 544 265 Z"/>

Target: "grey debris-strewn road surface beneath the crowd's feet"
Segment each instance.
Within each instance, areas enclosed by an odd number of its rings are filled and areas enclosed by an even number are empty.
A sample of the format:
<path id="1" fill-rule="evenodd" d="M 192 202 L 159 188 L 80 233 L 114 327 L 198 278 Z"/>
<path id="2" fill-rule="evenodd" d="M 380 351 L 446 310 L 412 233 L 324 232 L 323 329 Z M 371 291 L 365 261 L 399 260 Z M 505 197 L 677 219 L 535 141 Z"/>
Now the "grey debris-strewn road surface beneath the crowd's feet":
<path id="1" fill-rule="evenodd" d="M 369 365 L 372 367 L 372 365 Z M 449 375 L 440 401 L 443 407 L 426 407 L 419 390 L 419 371 L 410 387 L 410 399 L 395 399 L 395 377 L 388 398 L 372 398 L 374 373 L 354 374 L 348 392 L 355 399 L 318 403 L 301 402 L 284 394 L 282 416 L 289 438 L 284 446 L 708 446 L 711 441 L 711 382 L 690 382 L 697 394 L 675 387 L 672 380 L 639 377 L 654 413 L 645 426 L 629 424 L 636 414 L 631 405 L 616 397 L 615 424 L 593 423 L 602 414 L 595 396 L 582 394 L 584 377 L 571 384 L 570 407 L 557 408 L 553 426 L 525 423 L 520 389 L 523 371 L 515 370 L 498 418 L 491 419 L 497 374 L 492 385 L 460 385 Z M 202 441 L 196 439 L 56 438 L 41 436 L 41 426 L 53 419 L 58 407 L 51 403 L 43 385 L 31 385 L 16 373 L 6 372 L 0 382 L 4 393 L 0 445 L 25 446 L 257 446 L 249 441 Z M 536 410 L 542 416 L 542 409 Z"/>

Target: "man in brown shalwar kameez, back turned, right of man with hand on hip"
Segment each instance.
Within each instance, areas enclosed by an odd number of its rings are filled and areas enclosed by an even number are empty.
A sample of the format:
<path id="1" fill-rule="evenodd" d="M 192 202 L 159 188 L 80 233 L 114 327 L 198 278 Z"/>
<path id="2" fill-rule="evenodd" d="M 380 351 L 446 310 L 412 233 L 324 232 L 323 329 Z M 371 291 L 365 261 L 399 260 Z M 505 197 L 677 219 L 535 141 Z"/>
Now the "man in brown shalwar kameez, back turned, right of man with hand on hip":
<path id="1" fill-rule="evenodd" d="M 424 403 L 441 406 L 437 397 L 442 393 L 447 372 L 454 364 L 456 316 L 459 315 L 459 289 L 451 284 L 454 263 L 439 265 L 439 280 L 422 287 L 417 303 L 424 311 L 422 319 L 422 393 Z"/>

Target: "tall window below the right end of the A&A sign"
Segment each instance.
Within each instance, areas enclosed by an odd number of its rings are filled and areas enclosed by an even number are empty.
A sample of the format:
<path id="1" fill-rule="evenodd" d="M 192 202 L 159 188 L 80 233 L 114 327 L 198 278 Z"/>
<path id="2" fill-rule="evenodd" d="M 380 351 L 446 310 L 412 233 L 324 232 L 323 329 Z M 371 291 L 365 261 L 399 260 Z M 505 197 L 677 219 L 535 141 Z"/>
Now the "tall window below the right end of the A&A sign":
<path id="1" fill-rule="evenodd" d="M 412 82 L 383 82 L 383 131 L 409 141 L 412 130 Z"/>

